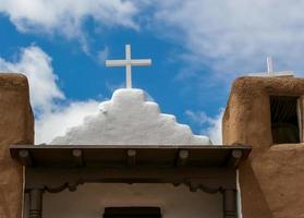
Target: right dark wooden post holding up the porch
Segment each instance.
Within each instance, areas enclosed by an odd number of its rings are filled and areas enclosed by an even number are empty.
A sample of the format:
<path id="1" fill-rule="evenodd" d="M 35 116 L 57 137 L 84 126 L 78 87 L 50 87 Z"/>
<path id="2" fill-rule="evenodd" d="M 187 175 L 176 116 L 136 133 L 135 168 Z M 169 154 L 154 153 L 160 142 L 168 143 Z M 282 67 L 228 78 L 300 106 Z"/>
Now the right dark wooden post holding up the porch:
<path id="1" fill-rule="evenodd" d="M 223 190 L 223 218 L 236 218 L 236 190 Z"/>

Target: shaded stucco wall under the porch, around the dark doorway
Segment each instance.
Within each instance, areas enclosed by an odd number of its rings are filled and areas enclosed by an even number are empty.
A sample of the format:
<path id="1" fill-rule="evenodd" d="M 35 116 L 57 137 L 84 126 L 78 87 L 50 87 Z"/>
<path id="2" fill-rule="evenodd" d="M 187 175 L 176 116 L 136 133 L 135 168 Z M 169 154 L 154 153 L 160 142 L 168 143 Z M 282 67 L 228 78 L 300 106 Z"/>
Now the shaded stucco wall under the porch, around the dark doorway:
<path id="1" fill-rule="evenodd" d="M 75 192 L 44 194 L 44 218 L 101 218 L 105 207 L 114 206 L 157 206 L 163 218 L 222 218 L 220 193 L 185 185 L 86 183 Z"/>

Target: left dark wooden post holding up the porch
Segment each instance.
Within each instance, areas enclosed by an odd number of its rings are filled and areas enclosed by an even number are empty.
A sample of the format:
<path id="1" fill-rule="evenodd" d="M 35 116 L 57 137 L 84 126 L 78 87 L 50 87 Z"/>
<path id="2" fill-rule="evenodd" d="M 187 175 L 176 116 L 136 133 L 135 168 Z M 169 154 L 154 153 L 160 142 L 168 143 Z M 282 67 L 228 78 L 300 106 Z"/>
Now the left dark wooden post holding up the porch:
<path id="1" fill-rule="evenodd" d="M 34 189 L 29 192 L 29 218 L 42 218 L 42 190 Z"/>

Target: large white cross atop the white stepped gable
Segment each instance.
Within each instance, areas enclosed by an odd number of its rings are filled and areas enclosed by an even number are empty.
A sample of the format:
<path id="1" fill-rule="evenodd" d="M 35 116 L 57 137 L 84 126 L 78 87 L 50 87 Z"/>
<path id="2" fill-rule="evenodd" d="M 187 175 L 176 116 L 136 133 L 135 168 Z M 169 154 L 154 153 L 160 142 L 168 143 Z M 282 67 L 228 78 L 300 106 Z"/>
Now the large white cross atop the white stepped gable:
<path id="1" fill-rule="evenodd" d="M 126 72 L 126 88 L 132 88 L 132 72 L 133 65 L 150 65 L 151 59 L 131 59 L 131 46 L 125 45 L 125 60 L 106 60 L 106 66 L 125 66 Z"/>

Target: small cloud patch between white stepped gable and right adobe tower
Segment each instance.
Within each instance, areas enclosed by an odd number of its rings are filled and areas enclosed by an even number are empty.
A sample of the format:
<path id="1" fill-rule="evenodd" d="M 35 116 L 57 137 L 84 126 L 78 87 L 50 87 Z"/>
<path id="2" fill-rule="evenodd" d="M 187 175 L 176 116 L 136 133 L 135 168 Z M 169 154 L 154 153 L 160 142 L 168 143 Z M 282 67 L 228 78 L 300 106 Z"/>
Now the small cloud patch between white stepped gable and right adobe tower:
<path id="1" fill-rule="evenodd" d="M 223 108 L 220 110 L 220 113 L 215 118 L 208 117 L 204 111 L 192 111 L 186 110 L 185 116 L 190 119 L 191 122 L 197 124 L 200 129 L 202 134 L 206 134 L 210 137 L 211 142 L 215 145 L 222 144 L 222 116 Z"/>

